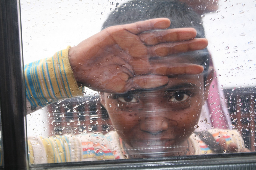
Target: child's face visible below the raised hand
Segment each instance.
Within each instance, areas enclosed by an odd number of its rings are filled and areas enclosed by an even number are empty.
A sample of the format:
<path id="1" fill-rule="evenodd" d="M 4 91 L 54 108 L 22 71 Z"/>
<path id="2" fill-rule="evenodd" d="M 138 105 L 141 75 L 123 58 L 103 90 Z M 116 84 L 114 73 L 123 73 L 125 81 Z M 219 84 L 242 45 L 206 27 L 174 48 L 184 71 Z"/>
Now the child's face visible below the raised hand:
<path id="1" fill-rule="evenodd" d="M 148 148 L 139 150 L 142 153 L 172 153 L 166 147 L 180 146 L 194 132 L 205 96 L 203 75 L 176 75 L 162 88 L 105 93 L 103 104 L 130 147 Z"/>

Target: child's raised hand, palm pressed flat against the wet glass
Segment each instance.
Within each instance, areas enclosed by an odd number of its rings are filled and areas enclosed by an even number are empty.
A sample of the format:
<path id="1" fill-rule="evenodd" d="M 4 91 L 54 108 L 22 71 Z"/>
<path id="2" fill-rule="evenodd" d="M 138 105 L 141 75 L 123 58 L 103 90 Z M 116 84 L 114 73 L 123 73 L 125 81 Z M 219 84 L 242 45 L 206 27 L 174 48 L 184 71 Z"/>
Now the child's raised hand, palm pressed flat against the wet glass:
<path id="1" fill-rule="evenodd" d="M 165 85 L 170 74 L 200 74 L 200 65 L 161 66 L 149 61 L 152 56 L 207 47 L 206 39 L 194 39 L 195 29 L 165 29 L 169 26 L 167 18 L 113 26 L 72 47 L 69 61 L 77 82 L 97 91 L 122 93 Z"/>

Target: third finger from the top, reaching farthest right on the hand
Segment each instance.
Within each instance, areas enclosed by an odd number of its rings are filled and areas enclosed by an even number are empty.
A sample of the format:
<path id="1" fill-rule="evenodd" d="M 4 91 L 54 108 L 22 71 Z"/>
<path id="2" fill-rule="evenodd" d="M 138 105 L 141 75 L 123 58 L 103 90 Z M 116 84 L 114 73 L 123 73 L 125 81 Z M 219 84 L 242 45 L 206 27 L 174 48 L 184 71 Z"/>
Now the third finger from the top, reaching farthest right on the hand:
<path id="1" fill-rule="evenodd" d="M 150 56 L 168 56 L 174 53 L 200 50 L 206 48 L 208 41 L 205 38 L 195 38 L 192 40 L 161 43 L 148 47 Z"/>

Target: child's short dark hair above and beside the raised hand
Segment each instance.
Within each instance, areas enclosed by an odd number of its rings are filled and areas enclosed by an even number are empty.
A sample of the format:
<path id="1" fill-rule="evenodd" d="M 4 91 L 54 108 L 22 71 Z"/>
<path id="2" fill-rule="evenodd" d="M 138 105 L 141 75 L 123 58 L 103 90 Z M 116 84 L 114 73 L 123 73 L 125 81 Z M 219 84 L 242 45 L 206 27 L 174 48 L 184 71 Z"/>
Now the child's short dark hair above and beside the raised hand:
<path id="1" fill-rule="evenodd" d="M 205 37 L 204 28 L 201 23 L 201 16 L 194 10 L 178 0 L 134 0 L 123 3 L 103 24 L 103 29 L 121 24 L 134 23 L 153 18 L 166 17 L 171 20 L 172 28 L 196 29 L 196 38 Z M 188 52 L 189 53 L 189 52 Z M 204 67 L 205 72 L 209 68 L 209 53 L 207 49 L 191 52 L 193 60 Z"/>

